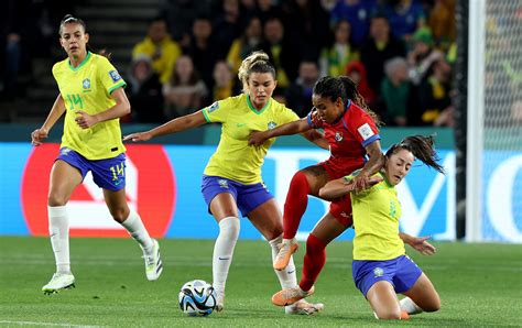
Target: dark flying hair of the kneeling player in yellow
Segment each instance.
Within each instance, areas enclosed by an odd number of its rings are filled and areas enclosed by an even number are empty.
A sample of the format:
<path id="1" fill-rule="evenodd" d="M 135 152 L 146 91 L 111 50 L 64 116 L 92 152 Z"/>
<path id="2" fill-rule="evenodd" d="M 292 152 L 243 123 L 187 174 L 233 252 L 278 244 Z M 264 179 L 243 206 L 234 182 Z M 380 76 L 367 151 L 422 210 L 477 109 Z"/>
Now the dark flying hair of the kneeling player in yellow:
<path id="1" fill-rule="evenodd" d="M 441 158 L 437 155 L 437 152 L 434 147 L 434 138 L 433 135 L 411 135 L 404 138 L 400 143 L 393 144 L 387 152 L 385 156 L 389 158 L 391 155 L 399 152 L 399 150 L 404 149 L 413 154 L 415 158 L 421 160 L 425 165 L 435 168 L 436 171 L 445 174 L 444 167 L 441 166 L 437 162 Z"/>

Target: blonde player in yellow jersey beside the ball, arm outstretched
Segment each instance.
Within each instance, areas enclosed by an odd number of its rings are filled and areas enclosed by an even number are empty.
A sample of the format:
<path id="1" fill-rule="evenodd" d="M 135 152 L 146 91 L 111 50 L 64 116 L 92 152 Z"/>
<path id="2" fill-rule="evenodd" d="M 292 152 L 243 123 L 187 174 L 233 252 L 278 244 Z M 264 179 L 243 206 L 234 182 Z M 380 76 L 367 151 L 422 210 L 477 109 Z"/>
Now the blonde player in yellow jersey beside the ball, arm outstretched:
<path id="1" fill-rule="evenodd" d="M 261 179 L 261 166 L 275 139 L 260 146 L 250 146 L 252 131 L 264 131 L 298 120 L 297 114 L 272 98 L 275 69 L 269 56 L 252 53 L 241 64 L 239 79 L 243 94 L 214 102 L 195 113 L 176 118 L 146 132 L 133 133 L 123 140 L 145 141 L 154 136 L 185 131 L 205 123 L 221 123 L 221 138 L 205 168 L 202 193 L 209 212 L 219 225 L 213 255 L 213 285 L 217 292 L 217 310 L 224 308 L 225 284 L 239 236 L 239 214 L 252 222 L 272 248 L 272 260 L 282 241 L 282 216 L 274 197 Z M 326 140 L 313 130 L 305 138 L 327 147 Z M 283 288 L 297 286 L 293 260 L 283 271 L 276 271 Z M 312 314 L 323 308 L 304 300 L 286 307 L 286 314 Z"/>

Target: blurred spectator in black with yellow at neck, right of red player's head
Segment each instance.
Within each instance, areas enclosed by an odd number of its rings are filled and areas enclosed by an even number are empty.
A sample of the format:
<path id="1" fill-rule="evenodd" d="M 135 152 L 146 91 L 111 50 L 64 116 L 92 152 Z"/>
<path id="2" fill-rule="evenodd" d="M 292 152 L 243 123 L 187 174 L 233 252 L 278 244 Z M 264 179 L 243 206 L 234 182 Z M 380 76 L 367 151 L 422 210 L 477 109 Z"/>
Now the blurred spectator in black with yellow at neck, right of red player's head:
<path id="1" fill-rule="evenodd" d="M 370 88 L 380 94 L 381 81 L 384 77 L 384 62 L 404 56 L 404 43 L 391 35 L 388 19 L 382 15 L 373 17 L 370 23 L 370 39 L 361 50 L 362 64 L 368 73 Z"/>

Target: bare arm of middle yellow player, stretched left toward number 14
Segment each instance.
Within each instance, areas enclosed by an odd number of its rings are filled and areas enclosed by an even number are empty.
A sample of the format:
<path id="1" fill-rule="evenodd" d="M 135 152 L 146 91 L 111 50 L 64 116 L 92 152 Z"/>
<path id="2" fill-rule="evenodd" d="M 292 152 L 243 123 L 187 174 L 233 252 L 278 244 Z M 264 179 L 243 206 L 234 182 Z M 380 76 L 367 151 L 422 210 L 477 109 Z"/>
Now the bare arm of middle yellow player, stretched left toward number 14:
<path id="1" fill-rule="evenodd" d="M 205 119 L 205 116 L 199 110 L 199 111 L 196 111 L 195 113 L 191 113 L 191 114 L 171 120 L 164 123 L 163 125 L 160 125 L 152 130 L 126 135 L 123 136 L 123 141 L 129 141 L 129 140 L 134 141 L 134 142 L 148 141 L 155 136 L 189 130 L 192 128 L 203 125 L 206 122 L 207 120 Z"/>

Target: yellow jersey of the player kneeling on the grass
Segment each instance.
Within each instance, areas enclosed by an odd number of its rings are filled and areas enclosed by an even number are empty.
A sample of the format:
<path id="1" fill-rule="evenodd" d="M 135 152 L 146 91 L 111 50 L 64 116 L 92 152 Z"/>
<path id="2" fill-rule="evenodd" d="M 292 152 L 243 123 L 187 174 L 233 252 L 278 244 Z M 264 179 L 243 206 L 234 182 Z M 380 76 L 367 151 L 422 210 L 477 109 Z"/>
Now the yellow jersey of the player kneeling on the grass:
<path id="1" fill-rule="evenodd" d="M 354 260 L 384 261 L 405 254 L 404 242 L 399 237 L 402 212 L 396 189 L 381 176 L 384 181 L 368 190 L 350 194 L 356 231 Z"/>

